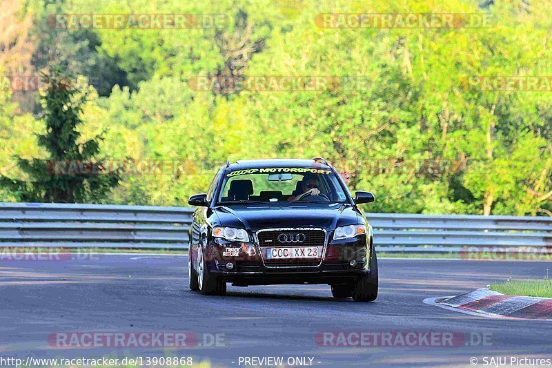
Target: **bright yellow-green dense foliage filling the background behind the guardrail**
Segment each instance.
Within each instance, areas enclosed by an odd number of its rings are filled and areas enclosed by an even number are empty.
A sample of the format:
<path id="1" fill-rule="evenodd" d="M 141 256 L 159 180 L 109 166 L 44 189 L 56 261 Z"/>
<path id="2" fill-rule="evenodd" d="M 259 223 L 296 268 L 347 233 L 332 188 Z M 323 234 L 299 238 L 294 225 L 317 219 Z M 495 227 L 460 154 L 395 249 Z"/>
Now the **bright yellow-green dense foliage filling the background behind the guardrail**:
<path id="1" fill-rule="evenodd" d="M 106 131 L 130 170 L 101 202 L 184 205 L 226 159 L 323 156 L 373 191 L 371 211 L 552 215 L 552 92 L 477 90 L 473 76 L 552 75 L 552 3 L 505 1 L 19 0 L 32 72 L 64 65 L 95 90 L 82 142 Z M 490 28 L 321 28 L 320 13 L 490 14 Z M 58 30 L 48 15 L 224 14 L 199 29 Z M 29 26 L 28 19 L 32 18 Z M 8 57 L 8 59 L 10 59 Z M 28 57 L 26 57 L 28 59 Z M 2 57 L 0 57 L 2 60 Z M 11 64 L 1 74 L 10 75 Z M 318 91 L 197 90 L 198 76 L 353 76 Z M 37 93 L 0 92 L 0 173 L 48 158 Z M 19 107 L 18 107 L 19 106 Z M 21 147 L 26 147 L 22 149 Z M 167 163 L 172 163 L 168 164 Z M 162 171 L 162 173 L 160 173 Z M 132 175 L 130 175 L 132 174 Z M 21 173 L 23 175 L 23 173 Z M 24 176 L 24 175 L 23 175 Z M 22 200 L 0 188 L 0 200 Z M 99 201 L 99 199 L 97 200 Z"/>

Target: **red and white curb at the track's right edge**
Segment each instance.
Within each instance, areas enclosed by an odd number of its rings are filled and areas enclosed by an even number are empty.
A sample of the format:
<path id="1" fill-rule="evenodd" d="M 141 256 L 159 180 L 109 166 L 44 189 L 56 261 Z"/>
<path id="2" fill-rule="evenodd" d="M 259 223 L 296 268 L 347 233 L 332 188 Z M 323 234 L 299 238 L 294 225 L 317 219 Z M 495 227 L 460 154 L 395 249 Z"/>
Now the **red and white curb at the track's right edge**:
<path id="1" fill-rule="evenodd" d="M 489 289 L 477 289 L 460 296 L 427 298 L 424 303 L 474 316 L 552 320 L 552 298 L 505 296 Z"/>

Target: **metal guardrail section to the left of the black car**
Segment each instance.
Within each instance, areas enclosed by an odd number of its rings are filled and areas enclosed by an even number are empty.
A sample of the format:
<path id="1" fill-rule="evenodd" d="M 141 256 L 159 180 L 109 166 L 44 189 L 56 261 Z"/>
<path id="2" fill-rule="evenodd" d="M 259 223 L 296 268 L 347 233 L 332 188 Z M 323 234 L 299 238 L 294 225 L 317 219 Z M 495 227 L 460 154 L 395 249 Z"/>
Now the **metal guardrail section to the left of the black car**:
<path id="1" fill-rule="evenodd" d="M 0 203 L 3 246 L 188 248 L 193 209 Z"/>

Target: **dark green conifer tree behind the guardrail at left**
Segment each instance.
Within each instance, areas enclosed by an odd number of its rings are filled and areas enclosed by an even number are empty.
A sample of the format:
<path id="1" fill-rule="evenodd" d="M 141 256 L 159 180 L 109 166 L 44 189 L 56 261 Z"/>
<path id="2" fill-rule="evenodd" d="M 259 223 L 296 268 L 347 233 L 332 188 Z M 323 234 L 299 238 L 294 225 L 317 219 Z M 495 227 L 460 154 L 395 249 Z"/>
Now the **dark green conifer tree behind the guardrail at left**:
<path id="1" fill-rule="evenodd" d="M 88 92 L 60 68 L 43 74 L 48 86 L 43 95 L 43 122 L 46 133 L 37 135 L 38 144 L 48 159 L 17 158 L 21 171 L 29 179 L 0 177 L 0 184 L 18 193 L 23 202 L 99 202 L 119 184 L 117 171 L 106 171 L 99 155 L 101 135 L 80 142 L 77 127 Z"/>

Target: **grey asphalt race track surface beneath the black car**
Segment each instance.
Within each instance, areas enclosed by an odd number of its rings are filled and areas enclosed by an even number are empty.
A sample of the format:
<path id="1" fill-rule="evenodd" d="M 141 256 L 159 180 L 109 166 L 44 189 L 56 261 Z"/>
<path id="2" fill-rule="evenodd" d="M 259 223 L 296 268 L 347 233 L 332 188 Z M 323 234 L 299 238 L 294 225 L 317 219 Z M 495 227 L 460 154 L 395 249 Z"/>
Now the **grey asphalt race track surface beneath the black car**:
<path id="1" fill-rule="evenodd" d="M 422 302 L 509 277 L 542 278 L 552 269 L 547 262 L 383 259 L 380 296 L 373 303 L 357 303 L 333 299 L 327 285 L 228 286 L 228 296 L 201 296 L 188 289 L 187 260 L 135 254 L 0 261 L 0 356 L 175 355 L 216 367 L 240 367 L 240 356 L 308 356 L 313 367 L 471 367 L 471 357 L 484 367 L 484 357 L 491 356 L 552 358 L 551 322 L 482 318 Z M 48 342 L 56 331 L 193 331 L 198 336 L 224 333 L 224 341 L 177 351 L 60 349 Z M 485 334 L 490 341 L 455 347 L 331 347 L 315 342 L 321 331 L 442 331 Z"/>

